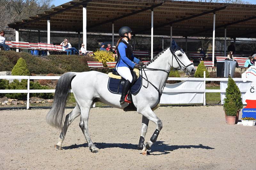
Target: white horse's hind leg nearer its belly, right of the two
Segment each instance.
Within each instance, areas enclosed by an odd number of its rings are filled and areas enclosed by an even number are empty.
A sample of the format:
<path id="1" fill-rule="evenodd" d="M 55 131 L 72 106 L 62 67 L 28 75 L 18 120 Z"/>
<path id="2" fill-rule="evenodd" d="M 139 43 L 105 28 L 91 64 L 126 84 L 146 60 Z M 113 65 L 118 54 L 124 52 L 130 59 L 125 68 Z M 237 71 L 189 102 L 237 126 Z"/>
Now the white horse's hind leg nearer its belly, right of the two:
<path id="1" fill-rule="evenodd" d="M 80 118 L 79 126 L 84 133 L 84 137 L 87 141 L 89 149 L 92 152 L 97 153 L 99 149 L 93 144 L 88 131 L 88 118 L 89 118 L 89 112 L 90 112 L 91 106 L 92 106 L 92 101 L 88 101 L 87 106 L 81 106 L 80 108 L 81 118 Z"/>

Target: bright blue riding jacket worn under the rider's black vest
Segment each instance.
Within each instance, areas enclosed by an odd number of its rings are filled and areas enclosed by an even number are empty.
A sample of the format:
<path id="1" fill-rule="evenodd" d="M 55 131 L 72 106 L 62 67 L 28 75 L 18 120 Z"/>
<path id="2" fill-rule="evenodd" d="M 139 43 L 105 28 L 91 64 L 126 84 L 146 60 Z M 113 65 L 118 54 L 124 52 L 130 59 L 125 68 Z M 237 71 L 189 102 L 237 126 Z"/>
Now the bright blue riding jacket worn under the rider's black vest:
<path id="1" fill-rule="evenodd" d="M 125 41 L 125 39 L 123 39 Z M 125 41 L 127 42 L 127 41 Z M 127 42 L 128 44 L 128 42 Z M 135 66 L 135 63 L 139 64 L 139 59 L 133 56 L 133 53 L 131 53 L 130 59 L 127 57 L 126 49 L 127 45 L 125 45 L 123 42 L 120 42 L 118 44 L 118 52 L 120 54 L 120 60 L 117 61 L 116 67 L 129 67 L 130 69 Z M 133 62 L 132 62 L 133 61 Z M 135 63 L 134 63 L 135 62 Z"/>

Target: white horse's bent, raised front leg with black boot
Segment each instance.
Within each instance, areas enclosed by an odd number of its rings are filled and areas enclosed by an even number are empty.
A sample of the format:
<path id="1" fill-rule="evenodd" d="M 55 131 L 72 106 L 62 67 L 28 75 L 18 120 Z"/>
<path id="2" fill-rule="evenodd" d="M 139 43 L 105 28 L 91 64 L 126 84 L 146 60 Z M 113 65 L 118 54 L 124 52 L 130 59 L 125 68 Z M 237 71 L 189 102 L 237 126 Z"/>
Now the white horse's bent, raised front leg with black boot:
<path id="1" fill-rule="evenodd" d="M 147 119 L 151 120 L 156 124 L 156 130 L 153 133 L 152 137 L 150 138 L 150 141 L 146 142 L 146 150 L 149 149 L 153 143 L 156 142 L 159 132 L 161 131 L 163 127 L 162 121 L 156 116 L 156 114 L 151 110 L 151 108 L 144 109 L 141 114 L 145 116 Z"/>

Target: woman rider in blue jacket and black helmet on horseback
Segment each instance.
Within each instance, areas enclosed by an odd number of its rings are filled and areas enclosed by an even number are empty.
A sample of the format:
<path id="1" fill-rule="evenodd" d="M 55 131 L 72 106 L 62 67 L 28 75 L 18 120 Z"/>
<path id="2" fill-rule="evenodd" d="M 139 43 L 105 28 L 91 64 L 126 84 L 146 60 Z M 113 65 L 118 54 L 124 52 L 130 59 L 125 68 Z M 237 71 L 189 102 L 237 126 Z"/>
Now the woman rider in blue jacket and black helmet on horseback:
<path id="1" fill-rule="evenodd" d="M 119 36 L 121 37 L 117 41 L 117 60 L 116 71 L 126 81 L 123 85 L 120 104 L 124 104 L 125 96 L 130 89 L 132 83 L 131 69 L 139 68 L 142 65 L 142 61 L 133 56 L 132 46 L 129 44 L 129 40 L 132 38 L 132 30 L 128 26 L 123 26 L 119 29 Z"/>

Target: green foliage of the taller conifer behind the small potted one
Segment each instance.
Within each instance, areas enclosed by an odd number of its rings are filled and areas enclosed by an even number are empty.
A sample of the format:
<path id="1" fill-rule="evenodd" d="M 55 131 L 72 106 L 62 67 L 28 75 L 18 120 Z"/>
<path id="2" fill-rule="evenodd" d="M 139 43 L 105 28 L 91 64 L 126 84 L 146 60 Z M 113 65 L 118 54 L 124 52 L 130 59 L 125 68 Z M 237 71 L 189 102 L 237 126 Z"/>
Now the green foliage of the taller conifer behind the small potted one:
<path id="1" fill-rule="evenodd" d="M 236 82 L 231 77 L 228 77 L 228 87 L 226 89 L 226 97 L 223 104 L 224 109 L 231 101 L 235 103 L 236 110 L 241 110 L 243 108 L 241 92 L 237 87 Z"/>

